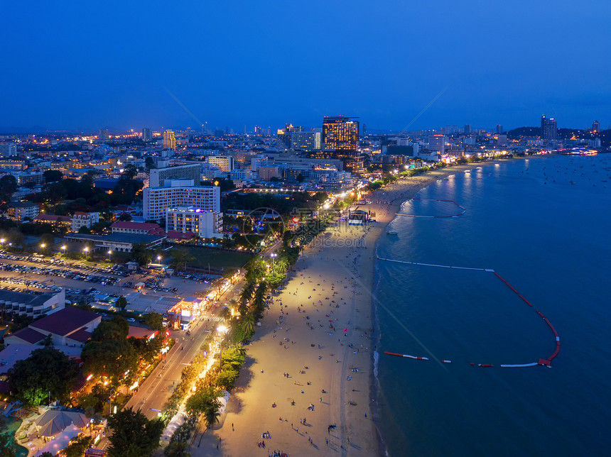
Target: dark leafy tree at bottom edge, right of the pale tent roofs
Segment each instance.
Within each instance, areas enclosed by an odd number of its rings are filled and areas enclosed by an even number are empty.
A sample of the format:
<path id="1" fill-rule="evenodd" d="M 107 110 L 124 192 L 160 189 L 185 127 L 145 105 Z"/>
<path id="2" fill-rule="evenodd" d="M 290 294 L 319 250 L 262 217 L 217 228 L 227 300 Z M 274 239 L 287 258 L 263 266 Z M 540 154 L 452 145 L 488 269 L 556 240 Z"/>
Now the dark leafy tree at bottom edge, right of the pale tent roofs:
<path id="1" fill-rule="evenodd" d="M 146 419 L 146 416 L 132 408 L 121 409 L 108 419 L 112 429 L 108 441 L 109 457 L 145 457 L 158 446 L 163 421 L 161 419 Z"/>

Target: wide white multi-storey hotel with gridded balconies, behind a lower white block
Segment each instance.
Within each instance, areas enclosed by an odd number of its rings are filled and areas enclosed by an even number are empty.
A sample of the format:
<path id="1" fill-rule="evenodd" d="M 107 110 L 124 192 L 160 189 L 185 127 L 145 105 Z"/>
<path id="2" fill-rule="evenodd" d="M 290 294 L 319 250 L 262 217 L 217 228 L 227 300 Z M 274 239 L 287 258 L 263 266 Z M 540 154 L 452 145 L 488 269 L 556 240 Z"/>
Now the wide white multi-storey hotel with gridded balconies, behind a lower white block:
<path id="1" fill-rule="evenodd" d="M 221 192 L 217 186 L 195 186 L 193 180 L 166 181 L 169 187 L 145 187 L 143 194 L 144 220 L 161 221 L 166 209 L 195 207 L 220 213 Z"/>

